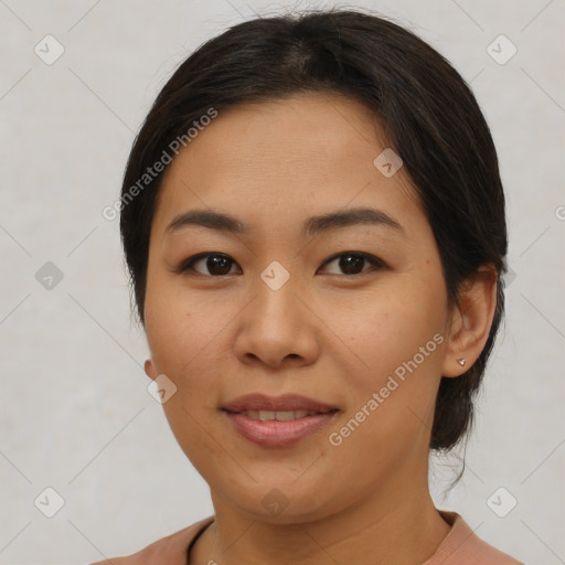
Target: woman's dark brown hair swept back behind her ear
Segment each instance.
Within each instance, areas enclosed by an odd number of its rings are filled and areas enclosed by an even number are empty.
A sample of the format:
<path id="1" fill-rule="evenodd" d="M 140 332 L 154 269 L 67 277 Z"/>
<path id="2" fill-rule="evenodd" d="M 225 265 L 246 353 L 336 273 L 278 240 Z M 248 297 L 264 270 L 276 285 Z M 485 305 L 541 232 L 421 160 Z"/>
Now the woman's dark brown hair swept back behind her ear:
<path id="1" fill-rule="evenodd" d="M 434 232 L 450 305 L 458 305 L 458 288 L 481 265 L 498 271 L 483 351 L 461 376 L 443 377 L 439 385 L 430 448 L 448 450 L 470 429 L 503 316 L 504 193 L 489 127 L 466 82 L 427 43 L 382 17 L 330 9 L 258 18 L 205 42 L 179 66 L 134 142 L 121 189 L 121 237 L 139 319 L 145 323 L 149 234 L 162 173 L 143 186 L 139 180 L 211 108 L 221 115 L 239 103 L 301 92 L 345 94 L 379 117 Z"/>

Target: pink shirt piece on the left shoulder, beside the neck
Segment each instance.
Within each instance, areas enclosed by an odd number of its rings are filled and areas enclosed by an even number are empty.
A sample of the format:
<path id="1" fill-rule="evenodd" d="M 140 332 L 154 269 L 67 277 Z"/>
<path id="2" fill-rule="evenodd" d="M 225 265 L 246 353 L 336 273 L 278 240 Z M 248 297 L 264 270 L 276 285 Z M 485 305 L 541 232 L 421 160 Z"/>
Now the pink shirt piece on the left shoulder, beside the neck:
<path id="1" fill-rule="evenodd" d="M 214 521 L 214 516 L 200 520 L 167 537 L 162 537 L 143 550 L 125 557 L 113 557 L 90 565 L 185 565 L 186 550 L 192 541 Z"/>

